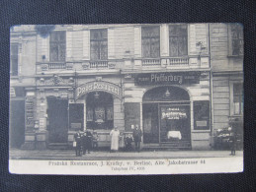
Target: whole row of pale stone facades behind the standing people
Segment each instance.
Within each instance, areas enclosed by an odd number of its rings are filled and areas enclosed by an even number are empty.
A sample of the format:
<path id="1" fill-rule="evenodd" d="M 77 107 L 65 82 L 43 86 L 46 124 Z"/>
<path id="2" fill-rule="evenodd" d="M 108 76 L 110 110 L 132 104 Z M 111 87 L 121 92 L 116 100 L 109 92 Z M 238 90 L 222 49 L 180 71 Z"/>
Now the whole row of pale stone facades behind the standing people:
<path id="1" fill-rule="evenodd" d="M 214 130 L 242 115 L 243 61 L 231 48 L 243 36 L 232 28 L 12 28 L 10 146 L 68 147 L 87 129 L 108 147 L 114 126 L 139 125 L 143 148 L 210 149 Z"/>

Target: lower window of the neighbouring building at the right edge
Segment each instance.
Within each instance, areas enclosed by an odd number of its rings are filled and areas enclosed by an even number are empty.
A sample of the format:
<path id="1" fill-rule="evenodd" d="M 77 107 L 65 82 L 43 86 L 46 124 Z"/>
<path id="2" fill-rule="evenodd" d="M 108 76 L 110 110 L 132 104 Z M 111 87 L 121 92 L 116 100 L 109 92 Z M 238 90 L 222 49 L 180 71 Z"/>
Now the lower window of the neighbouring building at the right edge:
<path id="1" fill-rule="evenodd" d="M 233 114 L 243 113 L 243 86 L 242 84 L 233 84 Z"/>

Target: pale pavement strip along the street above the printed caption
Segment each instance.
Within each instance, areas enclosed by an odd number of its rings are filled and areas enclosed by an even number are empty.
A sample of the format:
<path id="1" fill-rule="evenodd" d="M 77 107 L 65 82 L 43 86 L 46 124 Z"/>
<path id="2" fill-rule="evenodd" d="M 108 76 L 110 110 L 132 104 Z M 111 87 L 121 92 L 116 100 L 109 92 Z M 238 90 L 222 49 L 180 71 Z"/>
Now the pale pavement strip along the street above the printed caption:
<path id="1" fill-rule="evenodd" d="M 142 151 L 117 152 L 108 151 L 91 152 L 76 157 L 74 150 L 17 150 L 9 151 L 10 160 L 149 160 L 149 159 L 195 159 L 195 158 L 242 158 L 243 151 L 237 151 L 236 156 L 229 156 L 230 151 Z"/>

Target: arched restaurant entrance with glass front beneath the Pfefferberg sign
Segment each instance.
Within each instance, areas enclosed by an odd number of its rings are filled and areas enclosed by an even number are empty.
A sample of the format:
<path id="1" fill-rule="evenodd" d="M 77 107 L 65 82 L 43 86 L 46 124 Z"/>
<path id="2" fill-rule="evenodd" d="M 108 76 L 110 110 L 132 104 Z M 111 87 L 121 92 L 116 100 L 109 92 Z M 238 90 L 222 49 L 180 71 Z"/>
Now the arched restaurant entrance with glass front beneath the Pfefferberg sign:
<path id="1" fill-rule="evenodd" d="M 191 147 L 190 96 L 179 87 L 159 87 L 142 100 L 144 144 Z"/>

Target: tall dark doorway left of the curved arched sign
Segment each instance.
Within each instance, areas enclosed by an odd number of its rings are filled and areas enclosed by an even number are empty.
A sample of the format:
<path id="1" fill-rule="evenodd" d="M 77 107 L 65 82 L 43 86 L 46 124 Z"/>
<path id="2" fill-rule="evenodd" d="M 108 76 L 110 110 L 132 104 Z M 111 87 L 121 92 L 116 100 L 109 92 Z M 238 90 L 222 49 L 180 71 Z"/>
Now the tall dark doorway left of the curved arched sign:
<path id="1" fill-rule="evenodd" d="M 47 116 L 50 143 L 66 143 L 68 132 L 67 99 L 47 97 Z"/>

